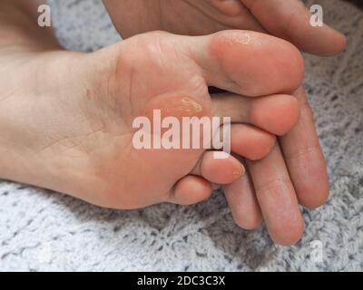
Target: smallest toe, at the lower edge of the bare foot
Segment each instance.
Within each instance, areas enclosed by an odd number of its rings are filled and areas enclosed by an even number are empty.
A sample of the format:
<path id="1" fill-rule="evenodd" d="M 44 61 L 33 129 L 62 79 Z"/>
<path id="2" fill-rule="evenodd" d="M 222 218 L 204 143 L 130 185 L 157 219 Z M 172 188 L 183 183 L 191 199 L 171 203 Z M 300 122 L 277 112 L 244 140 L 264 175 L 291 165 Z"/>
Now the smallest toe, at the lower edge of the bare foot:
<path id="1" fill-rule="evenodd" d="M 176 184 L 169 194 L 168 202 L 178 205 L 192 205 L 211 196 L 211 182 L 198 176 L 188 175 Z"/>

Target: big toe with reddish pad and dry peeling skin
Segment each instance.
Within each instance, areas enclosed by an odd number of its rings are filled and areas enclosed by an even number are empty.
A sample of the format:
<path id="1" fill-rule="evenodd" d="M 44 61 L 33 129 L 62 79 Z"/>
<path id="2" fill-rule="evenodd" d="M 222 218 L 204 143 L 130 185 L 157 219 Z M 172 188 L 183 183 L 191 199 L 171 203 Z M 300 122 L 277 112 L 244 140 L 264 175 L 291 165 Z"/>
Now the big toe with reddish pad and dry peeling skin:
<path id="1" fill-rule="evenodd" d="M 268 34 L 223 31 L 200 37 L 189 52 L 209 85 L 246 96 L 293 92 L 304 62 L 292 44 Z"/>

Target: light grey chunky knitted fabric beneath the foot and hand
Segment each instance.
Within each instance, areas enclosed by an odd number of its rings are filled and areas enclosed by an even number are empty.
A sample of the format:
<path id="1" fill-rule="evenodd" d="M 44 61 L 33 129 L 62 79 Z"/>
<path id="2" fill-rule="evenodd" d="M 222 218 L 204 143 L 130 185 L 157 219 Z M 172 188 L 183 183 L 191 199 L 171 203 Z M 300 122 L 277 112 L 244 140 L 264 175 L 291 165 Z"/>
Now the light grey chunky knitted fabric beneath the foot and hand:
<path id="1" fill-rule="evenodd" d="M 331 192 L 324 207 L 303 210 L 306 233 L 298 245 L 278 247 L 265 228 L 236 227 L 220 192 L 194 207 L 116 211 L 0 181 L 0 270 L 362 270 L 363 14 L 339 0 L 308 1 L 317 2 L 349 45 L 336 58 L 307 56 L 306 86 Z M 65 47 L 93 50 L 118 41 L 101 1 L 52 5 Z M 314 240 L 323 245 L 321 263 L 309 258 Z"/>

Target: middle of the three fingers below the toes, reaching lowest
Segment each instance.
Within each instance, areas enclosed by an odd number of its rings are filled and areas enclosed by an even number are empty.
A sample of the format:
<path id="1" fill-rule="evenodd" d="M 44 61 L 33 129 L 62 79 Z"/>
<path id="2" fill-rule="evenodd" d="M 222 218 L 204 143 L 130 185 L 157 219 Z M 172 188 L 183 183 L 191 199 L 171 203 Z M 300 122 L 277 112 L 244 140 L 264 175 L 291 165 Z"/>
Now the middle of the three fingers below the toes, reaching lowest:
<path id="1" fill-rule="evenodd" d="M 283 246 L 296 243 L 304 225 L 279 145 L 265 159 L 247 161 L 247 166 L 270 237 Z"/>

